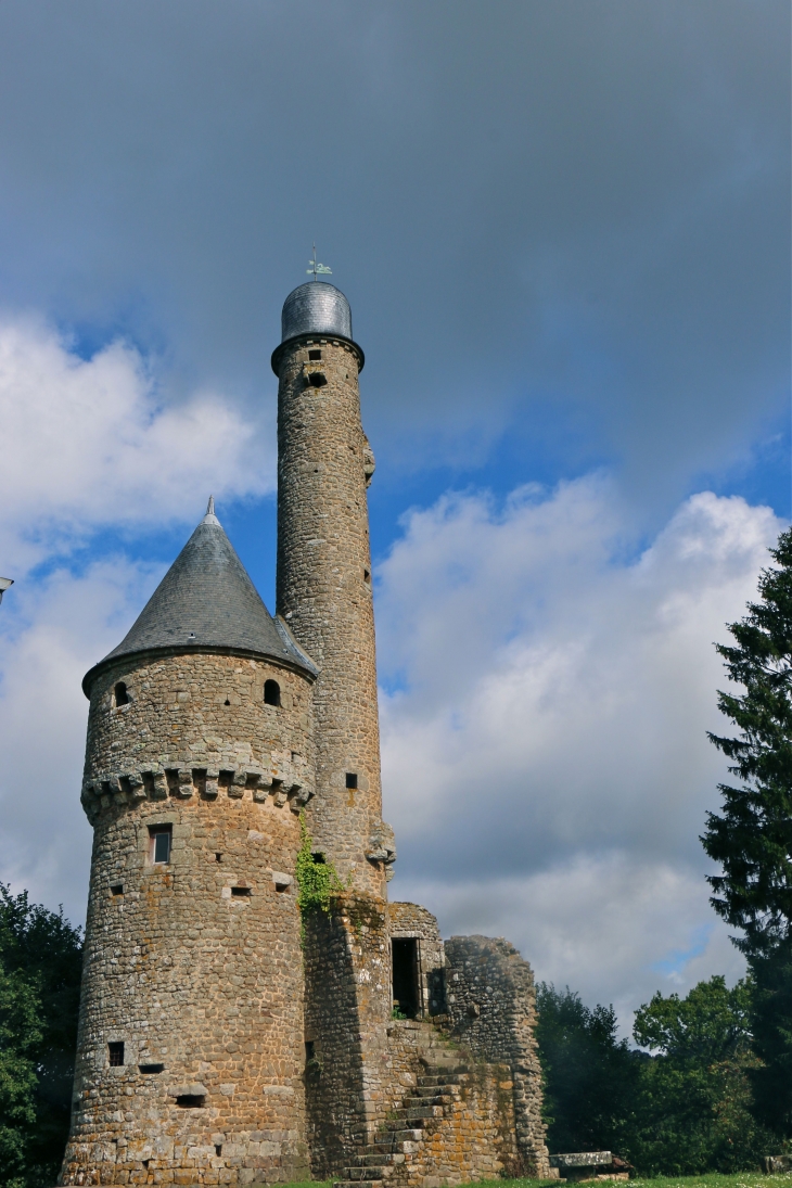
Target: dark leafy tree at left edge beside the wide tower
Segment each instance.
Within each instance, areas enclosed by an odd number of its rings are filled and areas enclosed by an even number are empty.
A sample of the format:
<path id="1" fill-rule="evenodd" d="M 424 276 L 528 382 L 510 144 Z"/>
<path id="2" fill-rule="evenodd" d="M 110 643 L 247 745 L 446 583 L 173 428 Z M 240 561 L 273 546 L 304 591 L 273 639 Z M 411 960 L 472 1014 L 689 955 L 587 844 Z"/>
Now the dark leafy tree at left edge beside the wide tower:
<path id="1" fill-rule="evenodd" d="M 69 1131 L 82 934 L 0 884 L 0 1184 L 57 1178 Z M 8 1148 L 11 1150 L 11 1146 Z M 21 1162 L 20 1162 L 21 1161 Z M 20 1178 L 21 1177 L 21 1178 Z"/>

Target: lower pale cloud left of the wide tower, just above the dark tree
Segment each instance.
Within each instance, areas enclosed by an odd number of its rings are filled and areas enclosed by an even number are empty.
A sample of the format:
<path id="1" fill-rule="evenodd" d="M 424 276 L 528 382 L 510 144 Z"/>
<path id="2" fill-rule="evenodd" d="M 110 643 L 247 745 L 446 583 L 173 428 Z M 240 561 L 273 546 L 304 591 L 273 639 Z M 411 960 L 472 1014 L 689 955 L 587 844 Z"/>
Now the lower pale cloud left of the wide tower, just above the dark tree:
<path id="1" fill-rule="evenodd" d="M 122 560 L 52 573 L 2 640 L 0 879 L 85 915 L 91 830 L 80 803 L 88 702 L 81 681 L 119 642 L 159 573 Z M 5 605 L 4 605 L 5 611 Z"/>

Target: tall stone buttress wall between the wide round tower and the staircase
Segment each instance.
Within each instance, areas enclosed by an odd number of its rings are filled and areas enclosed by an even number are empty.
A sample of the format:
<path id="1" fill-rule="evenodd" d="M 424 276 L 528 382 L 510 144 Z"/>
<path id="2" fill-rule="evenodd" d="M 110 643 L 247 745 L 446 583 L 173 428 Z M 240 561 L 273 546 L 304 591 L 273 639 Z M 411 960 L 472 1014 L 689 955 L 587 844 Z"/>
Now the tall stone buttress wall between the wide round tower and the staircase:
<path id="1" fill-rule="evenodd" d="M 388 1108 L 391 953 L 385 904 L 341 897 L 305 921 L 308 1142 L 313 1178 L 340 1173 Z"/>

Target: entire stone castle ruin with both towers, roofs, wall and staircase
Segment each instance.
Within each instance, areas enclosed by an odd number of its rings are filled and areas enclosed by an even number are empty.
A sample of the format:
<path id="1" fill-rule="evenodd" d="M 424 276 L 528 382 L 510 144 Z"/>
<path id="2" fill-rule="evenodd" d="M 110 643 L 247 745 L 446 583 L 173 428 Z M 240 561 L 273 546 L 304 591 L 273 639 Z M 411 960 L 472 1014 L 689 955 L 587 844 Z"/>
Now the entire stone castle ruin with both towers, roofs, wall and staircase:
<path id="1" fill-rule="evenodd" d="M 63 1184 L 547 1173 L 528 966 L 387 903 L 362 353 L 346 298 L 306 287 L 285 326 L 316 305 L 343 328 L 285 333 L 273 356 L 279 615 L 210 500 L 83 683 L 94 853 Z M 302 920 L 300 819 L 344 889 Z"/>

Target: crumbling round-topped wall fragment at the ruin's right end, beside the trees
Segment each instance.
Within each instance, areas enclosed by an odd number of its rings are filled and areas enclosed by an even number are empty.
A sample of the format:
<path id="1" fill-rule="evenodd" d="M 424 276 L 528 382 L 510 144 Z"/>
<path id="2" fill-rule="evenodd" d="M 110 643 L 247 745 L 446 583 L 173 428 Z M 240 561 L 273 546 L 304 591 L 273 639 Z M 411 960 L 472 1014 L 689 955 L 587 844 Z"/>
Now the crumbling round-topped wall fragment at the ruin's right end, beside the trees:
<path id="1" fill-rule="evenodd" d="M 488 936 L 445 942 L 446 1009 L 451 1035 L 480 1060 L 512 1070 L 517 1138 L 525 1173 L 550 1173 L 541 1121 L 541 1069 L 533 1037 L 536 990 L 513 944 Z"/>

